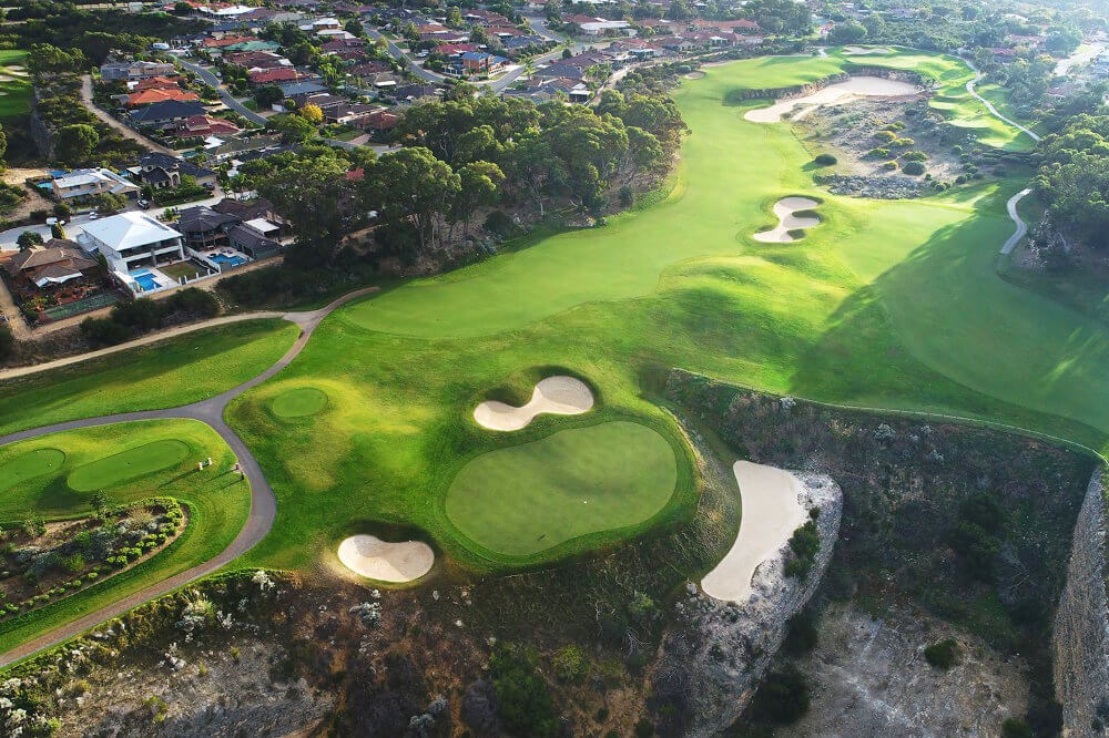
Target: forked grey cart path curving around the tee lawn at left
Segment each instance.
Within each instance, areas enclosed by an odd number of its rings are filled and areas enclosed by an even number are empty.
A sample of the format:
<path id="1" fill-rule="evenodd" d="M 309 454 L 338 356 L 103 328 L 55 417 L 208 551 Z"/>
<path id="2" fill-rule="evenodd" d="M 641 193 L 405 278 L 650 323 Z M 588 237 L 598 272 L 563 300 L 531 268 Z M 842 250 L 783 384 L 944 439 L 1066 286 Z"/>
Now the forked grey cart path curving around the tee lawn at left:
<path id="1" fill-rule="evenodd" d="M 254 458 L 254 454 L 251 453 L 250 449 L 246 448 L 246 444 L 243 443 L 243 440 L 238 438 L 235 431 L 233 431 L 226 422 L 224 422 L 223 412 L 227 404 L 240 394 L 257 387 L 287 367 L 307 345 L 308 339 L 312 338 L 312 334 L 316 329 L 316 326 L 318 326 L 321 321 L 323 321 L 323 319 L 330 315 L 336 308 L 340 307 L 345 303 L 348 303 L 349 300 L 375 293 L 377 289 L 377 287 L 366 287 L 364 289 L 353 291 L 348 295 L 344 295 L 319 310 L 308 312 L 289 312 L 284 315 L 283 317 L 286 320 L 301 326 L 301 336 L 296 339 L 296 342 L 293 344 L 288 351 L 285 352 L 285 356 L 278 359 L 276 363 L 257 377 L 243 382 L 238 387 L 233 387 L 232 389 L 213 398 L 179 408 L 144 410 L 140 412 L 125 412 L 114 416 L 84 418 L 81 420 L 71 420 L 63 423 L 54 423 L 52 426 L 43 426 L 41 428 L 19 431 L 18 433 L 9 433 L 8 435 L 0 435 L 0 445 L 6 445 L 8 443 L 24 441 L 40 435 L 48 435 L 50 433 L 75 430 L 79 428 L 108 426 L 111 423 L 167 419 L 199 420 L 210 426 L 216 433 L 220 434 L 220 438 L 222 438 L 227 445 L 231 447 L 231 450 L 235 453 L 235 458 L 238 460 L 240 467 L 242 468 L 246 480 L 251 484 L 251 512 L 246 519 L 246 523 L 238 532 L 238 535 L 235 536 L 235 540 L 232 541 L 226 549 L 216 554 L 215 557 L 197 564 L 192 568 L 185 570 L 184 572 L 174 574 L 173 576 L 162 580 L 156 584 L 152 584 L 144 590 L 130 594 L 122 599 L 119 599 L 105 607 L 101 607 L 100 609 L 89 613 L 88 615 L 72 621 L 61 627 L 54 628 L 53 631 L 45 633 L 33 640 L 23 643 L 7 653 L 0 654 L 0 667 L 8 666 L 14 662 L 27 658 L 43 648 L 68 640 L 69 638 L 80 635 L 104 621 L 118 617 L 145 602 L 169 594 L 177 587 L 189 584 L 190 582 L 193 582 L 202 576 L 206 576 L 231 563 L 265 537 L 265 535 L 269 532 L 269 529 L 273 526 L 274 519 L 277 514 L 277 500 L 274 496 L 273 488 L 269 486 L 269 482 L 266 481 L 265 474 L 262 472 L 262 467 Z"/>

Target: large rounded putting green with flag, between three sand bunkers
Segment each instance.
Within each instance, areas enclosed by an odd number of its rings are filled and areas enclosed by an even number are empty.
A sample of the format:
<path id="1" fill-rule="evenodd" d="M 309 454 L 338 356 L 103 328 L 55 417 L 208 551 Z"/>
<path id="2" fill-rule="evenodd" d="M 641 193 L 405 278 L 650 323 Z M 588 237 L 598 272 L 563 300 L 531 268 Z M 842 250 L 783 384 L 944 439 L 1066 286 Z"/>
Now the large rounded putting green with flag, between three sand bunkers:
<path id="1" fill-rule="evenodd" d="M 673 449 L 639 423 L 566 430 L 470 461 L 447 492 L 447 517 L 478 545 L 529 556 L 638 525 L 678 481 Z"/>

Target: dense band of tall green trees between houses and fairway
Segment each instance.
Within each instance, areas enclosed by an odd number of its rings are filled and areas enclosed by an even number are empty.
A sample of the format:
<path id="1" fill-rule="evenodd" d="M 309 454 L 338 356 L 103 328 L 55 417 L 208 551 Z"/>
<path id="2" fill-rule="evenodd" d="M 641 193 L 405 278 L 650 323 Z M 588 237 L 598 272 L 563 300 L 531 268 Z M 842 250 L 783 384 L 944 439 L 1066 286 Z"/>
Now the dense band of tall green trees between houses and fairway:
<path id="1" fill-rule="evenodd" d="M 234 186 L 256 189 L 296 226 L 291 264 L 327 264 L 368 225 L 385 252 L 416 258 L 467 237 L 490 208 L 600 215 L 614 192 L 627 205 L 669 168 L 685 131 L 661 93 L 609 91 L 593 109 L 472 98 L 459 85 L 403 114 L 396 152 L 307 144 L 245 164 Z"/>

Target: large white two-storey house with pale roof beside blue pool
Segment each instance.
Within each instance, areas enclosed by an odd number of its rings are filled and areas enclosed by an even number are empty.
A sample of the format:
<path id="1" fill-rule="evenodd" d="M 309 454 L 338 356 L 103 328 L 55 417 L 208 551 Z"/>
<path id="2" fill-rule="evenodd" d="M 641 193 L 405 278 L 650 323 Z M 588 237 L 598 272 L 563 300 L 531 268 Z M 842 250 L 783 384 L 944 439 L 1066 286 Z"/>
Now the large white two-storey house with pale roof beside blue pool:
<path id="1" fill-rule="evenodd" d="M 145 213 L 120 213 L 82 226 L 78 243 L 99 253 L 112 271 L 129 276 L 141 267 L 153 267 L 185 258 L 184 237 Z"/>

